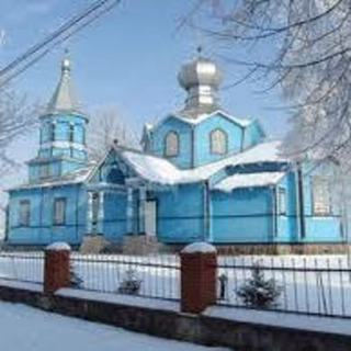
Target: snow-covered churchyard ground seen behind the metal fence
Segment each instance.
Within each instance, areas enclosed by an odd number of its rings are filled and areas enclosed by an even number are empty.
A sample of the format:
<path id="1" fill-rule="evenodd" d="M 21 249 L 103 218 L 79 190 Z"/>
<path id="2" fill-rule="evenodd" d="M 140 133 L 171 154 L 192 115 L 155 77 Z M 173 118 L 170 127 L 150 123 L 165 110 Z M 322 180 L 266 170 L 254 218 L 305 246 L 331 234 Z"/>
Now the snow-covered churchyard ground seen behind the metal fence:
<path id="1" fill-rule="evenodd" d="M 143 296 L 180 298 L 177 256 L 131 257 L 72 254 L 86 290 L 116 293 L 128 271 L 141 281 Z M 264 267 L 282 293 L 278 308 L 351 317 L 351 271 L 346 256 L 220 257 L 218 275 L 227 279 L 224 304 L 240 305 L 236 291 L 251 276 L 254 263 Z M 273 269 L 272 269 L 273 268 Z M 0 254 L 0 278 L 43 282 L 43 253 Z"/>

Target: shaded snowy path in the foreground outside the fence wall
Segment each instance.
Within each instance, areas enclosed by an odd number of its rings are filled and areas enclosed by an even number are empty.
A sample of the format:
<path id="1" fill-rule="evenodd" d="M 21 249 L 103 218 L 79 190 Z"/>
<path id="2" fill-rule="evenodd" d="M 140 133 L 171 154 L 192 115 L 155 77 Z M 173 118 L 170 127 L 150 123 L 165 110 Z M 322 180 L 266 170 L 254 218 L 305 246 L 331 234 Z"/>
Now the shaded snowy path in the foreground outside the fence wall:
<path id="1" fill-rule="evenodd" d="M 7 351 L 226 350 L 149 337 L 24 305 L 0 302 L 0 350 Z"/>

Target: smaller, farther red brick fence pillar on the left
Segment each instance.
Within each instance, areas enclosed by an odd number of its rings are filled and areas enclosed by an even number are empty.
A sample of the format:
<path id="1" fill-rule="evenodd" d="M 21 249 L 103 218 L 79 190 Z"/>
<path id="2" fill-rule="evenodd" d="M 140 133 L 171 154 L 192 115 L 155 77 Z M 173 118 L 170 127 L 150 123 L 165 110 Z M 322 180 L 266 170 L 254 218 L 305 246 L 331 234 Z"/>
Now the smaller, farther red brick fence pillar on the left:
<path id="1" fill-rule="evenodd" d="M 55 242 L 45 249 L 44 293 L 53 294 L 70 285 L 70 247 L 66 242 Z"/>

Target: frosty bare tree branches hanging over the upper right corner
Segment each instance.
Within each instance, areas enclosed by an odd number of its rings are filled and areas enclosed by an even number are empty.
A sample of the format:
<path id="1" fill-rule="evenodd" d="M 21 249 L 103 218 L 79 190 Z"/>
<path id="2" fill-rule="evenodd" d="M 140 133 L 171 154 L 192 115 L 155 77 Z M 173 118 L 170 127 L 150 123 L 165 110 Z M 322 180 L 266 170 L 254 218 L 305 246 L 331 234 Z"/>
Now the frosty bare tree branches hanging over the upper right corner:
<path id="1" fill-rule="evenodd" d="M 286 152 L 350 168 L 351 0 L 208 0 L 202 11 L 204 33 L 229 48 L 222 57 L 247 68 L 242 80 L 281 90 L 292 114 Z"/>

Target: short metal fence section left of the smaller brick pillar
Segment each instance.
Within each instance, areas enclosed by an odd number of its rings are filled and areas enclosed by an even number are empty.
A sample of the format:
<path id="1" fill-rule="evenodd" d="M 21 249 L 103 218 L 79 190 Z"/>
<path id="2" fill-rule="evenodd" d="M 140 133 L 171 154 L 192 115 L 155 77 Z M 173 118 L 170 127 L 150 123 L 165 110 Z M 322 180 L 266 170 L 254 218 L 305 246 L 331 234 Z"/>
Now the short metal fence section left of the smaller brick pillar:
<path id="1" fill-rule="evenodd" d="M 1 252 L 0 279 L 43 283 L 44 253 L 43 252 Z"/>

